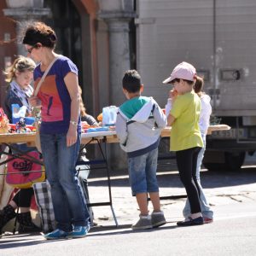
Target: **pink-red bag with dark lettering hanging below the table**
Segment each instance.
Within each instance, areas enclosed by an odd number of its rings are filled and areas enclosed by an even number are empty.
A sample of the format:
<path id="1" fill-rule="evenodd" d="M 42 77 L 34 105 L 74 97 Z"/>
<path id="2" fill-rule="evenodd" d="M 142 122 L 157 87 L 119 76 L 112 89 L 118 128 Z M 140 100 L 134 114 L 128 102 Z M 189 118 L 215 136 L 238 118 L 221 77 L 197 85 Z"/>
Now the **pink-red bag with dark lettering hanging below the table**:
<path id="1" fill-rule="evenodd" d="M 32 187 L 33 183 L 44 181 L 44 166 L 32 162 L 27 157 L 28 155 L 37 160 L 40 159 L 38 152 L 32 151 L 22 155 L 25 159 L 17 158 L 7 163 L 6 182 L 9 185 L 19 189 L 28 189 Z"/>

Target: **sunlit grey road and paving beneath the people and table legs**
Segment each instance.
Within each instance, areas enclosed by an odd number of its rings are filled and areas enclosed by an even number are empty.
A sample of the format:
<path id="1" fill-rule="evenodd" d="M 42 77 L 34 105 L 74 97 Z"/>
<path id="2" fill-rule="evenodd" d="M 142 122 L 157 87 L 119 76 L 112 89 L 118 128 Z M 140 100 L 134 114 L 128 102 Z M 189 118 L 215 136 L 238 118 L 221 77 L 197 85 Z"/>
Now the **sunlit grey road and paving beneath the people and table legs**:
<path id="1" fill-rule="evenodd" d="M 201 183 L 214 211 L 212 224 L 177 227 L 184 199 L 161 201 L 168 223 L 159 229 L 132 231 L 135 198 L 126 173 L 112 172 L 110 207 L 93 207 L 97 226 L 83 239 L 45 241 L 40 234 L 3 236 L 0 255 L 256 255 L 256 166 L 241 172 L 202 172 Z M 178 174 L 159 171 L 160 195 L 184 195 Z M 90 175 L 90 201 L 108 201 L 104 174 Z M 150 204 L 149 204 L 150 206 Z"/>

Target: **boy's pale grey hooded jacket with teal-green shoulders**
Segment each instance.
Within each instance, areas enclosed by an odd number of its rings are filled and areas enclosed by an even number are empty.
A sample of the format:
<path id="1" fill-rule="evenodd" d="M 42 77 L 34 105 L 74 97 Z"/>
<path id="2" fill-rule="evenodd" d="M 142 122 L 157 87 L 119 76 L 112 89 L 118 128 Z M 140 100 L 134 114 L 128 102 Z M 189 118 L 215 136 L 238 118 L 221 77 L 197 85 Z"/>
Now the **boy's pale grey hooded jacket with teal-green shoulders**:
<path id="1" fill-rule="evenodd" d="M 116 132 L 128 157 L 146 154 L 157 148 L 166 115 L 153 97 L 139 96 L 119 107 Z"/>

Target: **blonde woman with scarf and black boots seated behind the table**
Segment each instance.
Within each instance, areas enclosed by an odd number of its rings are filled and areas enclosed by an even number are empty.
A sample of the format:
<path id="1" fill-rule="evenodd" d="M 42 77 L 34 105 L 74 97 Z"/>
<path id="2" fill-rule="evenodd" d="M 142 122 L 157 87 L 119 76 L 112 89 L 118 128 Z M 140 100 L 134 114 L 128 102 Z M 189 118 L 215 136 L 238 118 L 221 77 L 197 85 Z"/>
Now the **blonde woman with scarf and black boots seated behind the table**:
<path id="1" fill-rule="evenodd" d="M 34 61 L 24 56 L 18 56 L 13 64 L 4 72 L 6 82 L 9 83 L 8 91 L 4 101 L 4 110 L 9 121 L 12 122 L 12 104 L 18 104 L 20 107 L 26 106 L 26 115 L 32 113 L 32 107 L 28 103 L 28 98 L 32 96 L 32 86 L 30 85 L 33 76 L 33 70 L 36 67 Z M 26 149 L 26 145 L 17 145 L 17 148 Z M 19 232 L 39 231 L 40 229 L 32 223 L 30 205 L 33 195 L 33 189 L 20 189 L 9 204 L 0 212 L 0 234 L 3 226 L 10 219 L 17 216 L 19 222 Z M 15 213 L 16 208 L 20 208 L 20 213 Z"/>

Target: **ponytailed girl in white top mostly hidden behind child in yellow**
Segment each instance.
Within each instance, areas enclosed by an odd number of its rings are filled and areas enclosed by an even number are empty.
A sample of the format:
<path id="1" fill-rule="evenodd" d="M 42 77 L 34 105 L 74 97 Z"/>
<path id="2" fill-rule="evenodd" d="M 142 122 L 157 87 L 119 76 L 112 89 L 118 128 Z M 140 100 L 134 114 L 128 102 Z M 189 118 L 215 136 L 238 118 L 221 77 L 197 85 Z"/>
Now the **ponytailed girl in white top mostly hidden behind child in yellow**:
<path id="1" fill-rule="evenodd" d="M 212 209 L 207 201 L 206 195 L 203 192 L 201 187 L 201 180 L 200 180 L 200 171 L 201 171 L 201 163 L 204 157 L 204 153 L 206 151 L 206 138 L 207 138 L 207 130 L 210 125 L 210 116 L 212 113 L 212 106 L 211 106 L 211 98 L 204 92 L 202 92 L 204 81 L 200 79 L 195 83 L 194 90 L 198 96 L 201 98 L 201 114 L 199 119 L 199 126 L 201 131 L 201 137 L 204 142 L 204 148 L 201 148 L 200 153 L 198 154 L 197 158 L 197 166 L 196 166 L 196 179 L 199 184 L 200 188 L 200 203 L 201 203 L 201 212 L 204 218 L 204 223 L 211 223 L 213 221 L 213 212 Z M 190 214 L 190 206 L 189 201 L 187 199 L 185 207 L 183 208 L 183 216 L 188 218 Z"/>

